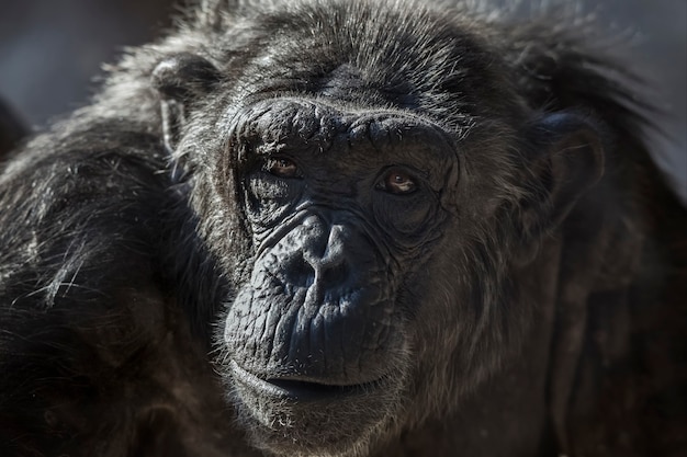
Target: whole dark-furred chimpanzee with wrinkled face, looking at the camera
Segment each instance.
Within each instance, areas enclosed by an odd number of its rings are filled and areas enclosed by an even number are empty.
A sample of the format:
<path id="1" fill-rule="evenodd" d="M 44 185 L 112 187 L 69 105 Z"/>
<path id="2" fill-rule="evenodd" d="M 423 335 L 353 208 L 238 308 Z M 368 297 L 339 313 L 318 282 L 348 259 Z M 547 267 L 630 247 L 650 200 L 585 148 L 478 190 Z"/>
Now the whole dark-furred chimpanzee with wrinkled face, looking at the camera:
<path id="1" fill-rule="evenodd" d="M 543 24 L 207 1 L 133 50 L 0 174 L 1 454 L 678 453 L 687 214 Z"/>

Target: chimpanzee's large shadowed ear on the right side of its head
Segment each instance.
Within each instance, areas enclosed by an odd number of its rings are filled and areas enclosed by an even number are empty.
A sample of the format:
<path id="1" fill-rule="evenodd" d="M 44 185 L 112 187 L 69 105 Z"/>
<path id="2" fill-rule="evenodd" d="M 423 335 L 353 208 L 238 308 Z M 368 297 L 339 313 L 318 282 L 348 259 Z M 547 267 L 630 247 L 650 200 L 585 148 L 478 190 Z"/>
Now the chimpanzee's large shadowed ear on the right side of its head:
<path id="1" fill-rule="evenodd" d="M 519 208 L 526 244 L 560 225 L 601 179 L 608 148 L 601 125 L 575 113 L 548 115 L 529 137 L 534 145 L 528 165 L 530 192 Z"/>

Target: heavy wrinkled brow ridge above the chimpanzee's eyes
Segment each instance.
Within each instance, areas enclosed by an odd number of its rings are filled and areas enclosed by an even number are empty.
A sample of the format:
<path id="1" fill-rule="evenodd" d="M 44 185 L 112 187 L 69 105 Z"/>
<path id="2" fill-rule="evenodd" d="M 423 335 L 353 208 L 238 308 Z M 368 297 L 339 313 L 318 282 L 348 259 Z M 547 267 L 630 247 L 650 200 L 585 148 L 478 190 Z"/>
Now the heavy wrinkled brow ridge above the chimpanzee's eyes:
<path id="1" fill-rule="evenodd" d="M 342 110 L 314 100 L 263 100 L 236 113 L 229 128 L 239 161 L 241 156 L 285 153 L 442 162 L 457 155 L 449 134 L 410 112 Z"/>

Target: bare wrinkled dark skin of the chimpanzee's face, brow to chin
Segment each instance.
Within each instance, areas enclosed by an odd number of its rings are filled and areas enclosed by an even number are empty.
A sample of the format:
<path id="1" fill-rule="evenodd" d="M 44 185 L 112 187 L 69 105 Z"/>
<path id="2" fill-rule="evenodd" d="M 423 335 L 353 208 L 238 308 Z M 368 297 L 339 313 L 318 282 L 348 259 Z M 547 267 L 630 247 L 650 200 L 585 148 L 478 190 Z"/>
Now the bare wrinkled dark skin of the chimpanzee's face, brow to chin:
<path id="1" fill-rule="evenodd" d="M 237 399 L 262 424 L 371 411 L 354 431 L 369 433 L 406 387 L 416 309 L 403 285 L 450 217 L 455 149 L 436 125 L 393 112 L 277 99 L 236 118 L 255 247 L 224 330 Z"/>

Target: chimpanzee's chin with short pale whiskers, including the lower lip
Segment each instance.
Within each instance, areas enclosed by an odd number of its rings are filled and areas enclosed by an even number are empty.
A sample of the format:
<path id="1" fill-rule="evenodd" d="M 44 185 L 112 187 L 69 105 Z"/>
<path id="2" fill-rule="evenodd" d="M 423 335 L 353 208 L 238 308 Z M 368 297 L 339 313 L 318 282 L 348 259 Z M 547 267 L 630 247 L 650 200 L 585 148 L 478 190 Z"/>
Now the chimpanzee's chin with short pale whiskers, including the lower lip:
<path id="1" fill-rule="evenodd" d="M 356 457 L 398 415 L 403 382 L 326 385 L 257 376 L 229 364 L 230 400 L 254 445 L 277 456 Z"/>

